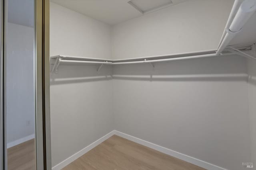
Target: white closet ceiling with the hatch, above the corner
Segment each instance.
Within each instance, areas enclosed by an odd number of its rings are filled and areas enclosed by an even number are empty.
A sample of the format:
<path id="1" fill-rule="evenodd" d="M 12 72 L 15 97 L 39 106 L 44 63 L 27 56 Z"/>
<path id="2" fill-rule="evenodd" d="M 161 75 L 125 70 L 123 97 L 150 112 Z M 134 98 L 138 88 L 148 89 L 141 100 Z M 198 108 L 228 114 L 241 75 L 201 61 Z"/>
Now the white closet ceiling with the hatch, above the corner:
<path id="1" fill-rule="evenodd" d="M 128 2 L 130 0 L 51 0 L 52 2 L 102 21 L 115 25 L 143 14 Z M 170 6 L 187 0 L 132 0 L 143 12 L 148 12 L 163 5 Z"/>

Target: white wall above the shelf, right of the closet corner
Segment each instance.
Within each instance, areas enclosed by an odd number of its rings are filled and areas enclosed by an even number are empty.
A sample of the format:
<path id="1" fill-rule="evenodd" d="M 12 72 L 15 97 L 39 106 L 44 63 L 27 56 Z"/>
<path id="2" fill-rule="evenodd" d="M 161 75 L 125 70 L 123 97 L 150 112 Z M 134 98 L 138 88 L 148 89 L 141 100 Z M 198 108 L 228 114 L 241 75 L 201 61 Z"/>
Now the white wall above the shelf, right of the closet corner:
<path id="1" fill-rule="evenodd" d="M 114 25 L 112 57 L 127 59 L 216 49 L 233 2 L 191 0 Z"/>

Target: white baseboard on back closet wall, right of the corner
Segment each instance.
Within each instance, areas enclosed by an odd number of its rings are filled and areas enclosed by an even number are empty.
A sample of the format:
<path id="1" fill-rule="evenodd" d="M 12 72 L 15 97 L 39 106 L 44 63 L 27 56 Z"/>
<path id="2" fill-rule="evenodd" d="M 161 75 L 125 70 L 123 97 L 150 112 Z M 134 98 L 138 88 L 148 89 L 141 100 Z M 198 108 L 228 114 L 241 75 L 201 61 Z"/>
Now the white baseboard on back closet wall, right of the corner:
<path id="1" fill-rule="evenodd" d="M 139 139 L 137 137 L 133 137 L 131 135 L 127 135 L 127 134 L 119 132 L 119 131 L 115 131 L 115 135 L 118 135 L 118 136 L 123 137 L 125 139 L 128 139 L 130 141 L 133 141 L 133 142 L 138 143 L 140 145 L 144 145 L 144 146 L 149 147 L 151 149 L 157 150 L 159 152 L 168 154 L 168 155 L 173 156 L 175 158 L 179 158 L 181 160 L 184 160 L 184 161 L 189 162 L 191 164 L 200 166 L 200 167 L 205 168 L 207 170 L 226 170 L 224 168 L 221 168 L 219 166 L 210 164 L 210 163 L 205 162 L 203 160 L 200 160 L 200 159 L 197 159 L 197 158 L 193 158 L 192 156 L 188 156 L 186 154 L 182 154 L 180 152 L 176 152 L 174 150 L 167 149 L 165 147 L 161 147 L 161 146 L 156 145 L 154 143 L 150 143 L 148 141 L 144 141 L 142 139 Z"/>

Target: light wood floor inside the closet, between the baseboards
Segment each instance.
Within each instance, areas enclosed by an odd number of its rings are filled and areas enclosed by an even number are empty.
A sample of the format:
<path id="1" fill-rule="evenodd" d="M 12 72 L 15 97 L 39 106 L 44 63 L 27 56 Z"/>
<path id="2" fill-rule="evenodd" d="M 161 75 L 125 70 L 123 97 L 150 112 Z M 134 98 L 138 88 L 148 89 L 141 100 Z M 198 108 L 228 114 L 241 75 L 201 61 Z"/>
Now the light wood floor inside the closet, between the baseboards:
<path id="1" fill-rule="evenodd" d="M 204 170 L 116 135 L 62 170 Z"/>

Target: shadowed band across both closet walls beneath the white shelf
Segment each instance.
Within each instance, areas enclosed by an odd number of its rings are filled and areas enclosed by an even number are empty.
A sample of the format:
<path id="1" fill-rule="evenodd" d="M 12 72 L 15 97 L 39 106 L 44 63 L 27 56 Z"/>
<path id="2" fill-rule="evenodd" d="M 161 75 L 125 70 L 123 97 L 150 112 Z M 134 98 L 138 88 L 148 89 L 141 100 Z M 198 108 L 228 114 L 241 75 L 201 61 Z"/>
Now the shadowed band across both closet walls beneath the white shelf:
<path id="1" fill-rule="evenodd" d="M 139 81 L 246 81 L 246 60 L 243 57 L 220 56 L 164 63 L 104 65 L 61 64 L 58 74 L 51 74 L 51 85 L 102 80 Z M 113 72 L 113 74 L 112 74 Z M 253 79 L 252 79 L 253 80 Z M 254 80 L 255 82 L 256 80 Z"/>

